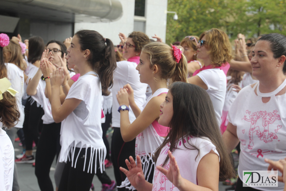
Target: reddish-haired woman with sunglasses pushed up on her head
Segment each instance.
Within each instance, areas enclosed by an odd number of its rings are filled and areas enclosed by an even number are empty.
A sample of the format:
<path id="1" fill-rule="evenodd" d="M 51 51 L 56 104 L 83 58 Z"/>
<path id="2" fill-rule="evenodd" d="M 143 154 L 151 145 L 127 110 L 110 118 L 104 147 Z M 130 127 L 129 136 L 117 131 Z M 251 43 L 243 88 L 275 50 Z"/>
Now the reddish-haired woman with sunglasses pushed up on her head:
<path id="1" fill-rule="evenodd" d="M 192 74 L 202 68 L 202 64 L 197 60 L 197 44 L 198 44 L 197 36 L 186 36 L 180 43 L 180 46 L 184 48 L 183 54 L 185 55 L 188 61 L 188 76 L 192 76 Z"/>

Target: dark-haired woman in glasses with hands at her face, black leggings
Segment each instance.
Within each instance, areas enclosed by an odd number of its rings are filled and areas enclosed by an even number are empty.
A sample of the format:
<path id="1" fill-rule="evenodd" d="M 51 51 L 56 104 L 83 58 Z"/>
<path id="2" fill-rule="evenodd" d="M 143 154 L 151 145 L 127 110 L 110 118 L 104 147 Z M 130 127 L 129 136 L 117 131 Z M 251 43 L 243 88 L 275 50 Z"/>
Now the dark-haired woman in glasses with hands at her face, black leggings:
<path id="1" fill-rule="evenodd" d="M 31 43 L 29 43 L 29 46 L 30 44 Z M 61 66 L 59 61 L 60 58 L 65 56 L 65 53 L 66 47 L 62 42 L 55 40 L 50 41 L 47 44 L 47 49 L 42 52 L 41 59 L 37 61 L 38 65 L 40 66 L 40 62 L 42 63 L 43 60 L 50 60 L 52 64 L 59 64 L 59 66 Z M 53 69 L 55 70 L 54 65 Z M 55 123 L 51 113 L 51 104 L 48 99 L 48 97 L 51 96 L 49 76 L 42 73 L 40 67 L 37 68 L 37 70 L 34 69 L 34 72 L 34 76 L 30 76 L 31 80 L 28 81 L 27 94 L 40 104 L 44 110 L 44 115 L 42 117 L 43 128 L 37 144 L 35 175 L 41 190 L 53 190 L 49 172 L 55 156 L 58 157 L 60 151 L 59 138 L 61 123 Z M 62 88 L 60 89 L 63 93 Z"/>

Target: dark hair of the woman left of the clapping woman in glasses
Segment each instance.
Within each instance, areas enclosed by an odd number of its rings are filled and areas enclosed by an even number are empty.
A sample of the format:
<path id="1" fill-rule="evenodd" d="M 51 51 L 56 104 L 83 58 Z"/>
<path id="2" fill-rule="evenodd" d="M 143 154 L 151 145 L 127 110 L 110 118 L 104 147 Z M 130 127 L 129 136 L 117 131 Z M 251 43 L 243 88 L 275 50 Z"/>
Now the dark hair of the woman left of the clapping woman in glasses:
<path id="1" fill-rule="evenodd" d="M 34 63 L 38 60 L 41 60 L 41 56 L 45 50 L 45 42 L 39 36 L 32 36 L 29 38 L 29 47 L 28 47 L 28 62 Z"/>

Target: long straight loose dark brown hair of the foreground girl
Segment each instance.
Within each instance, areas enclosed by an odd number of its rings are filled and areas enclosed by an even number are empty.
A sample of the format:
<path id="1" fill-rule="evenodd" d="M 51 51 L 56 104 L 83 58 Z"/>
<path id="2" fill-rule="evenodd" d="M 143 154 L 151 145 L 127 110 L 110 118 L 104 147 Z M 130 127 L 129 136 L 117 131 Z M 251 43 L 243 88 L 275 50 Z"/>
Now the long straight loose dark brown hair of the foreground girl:
<path id="1" fill-rule="evenodd" d="M 162 145 L 156 150 L 154 158 L 157 161 L 162 148 L 170 142 L 170 151 L 176 148 L 178 139 L 186 135 L 194 137 L 206 137 L 215 146 L 220 156 L 219 180 L 223 181 L 235 175 L 230 155 L 223 143 L 219 125 L 215 116 L 215 110 L 207 92 L 194 84 L 174 82 L 170 86 L 173 97 L 173 117 L 170 121 L 170 131 Z M 199 149 L 190 142 L 183 142 L 188 149 Z M 189 145 L 190 147 L 187 147 Z M 168 161 L 167 155 L 163 166 Z"/>

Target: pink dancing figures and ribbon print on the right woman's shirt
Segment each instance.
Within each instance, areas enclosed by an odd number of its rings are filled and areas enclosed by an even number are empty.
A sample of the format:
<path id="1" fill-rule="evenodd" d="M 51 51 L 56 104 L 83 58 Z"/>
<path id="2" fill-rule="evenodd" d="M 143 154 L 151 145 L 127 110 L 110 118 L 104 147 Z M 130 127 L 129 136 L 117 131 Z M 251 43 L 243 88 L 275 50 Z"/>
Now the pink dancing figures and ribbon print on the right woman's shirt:
<path id="1" fill-rule="evenodd" d="M 249 115 L 249 117 L 245 115 L 243 117 L 243 120 L 251 122 L 249 129 L 249 144 L 247 145 L 248 149 L 253 149 L 253 146 L 257 144 L 254 142 L 253 136 L 257 136 L 260 141 L 263 141 L 265 143 L 269 143 L 275 139 L 278 139 L 275 133 L 277 133 L 282 126 L 277 125 L 277 127 L 271 127 L 271 124 L 273 124 L 276 120 L 281 120 L 277 110 L 274 110 L 273 112 L 269 113 L 267 111 L 258 111 L 251 113 L 251 111 L 246 110 L 246 113 Z M 259 121 L 260 125 L 257 125 L 257 121 Z M 261 126 L 263 127 L 263 131 Z M 245 129 L 242 130 L 243 133 L 244 131 Z M 263 157 L 265 154 L 270 154 L 273 152 L 276 153 L 277 151 L 258 149 L 257 151 L 252 151 L 249 153 L 251 155 L 257 156 L 258 158 L 259 156 Z"/>

